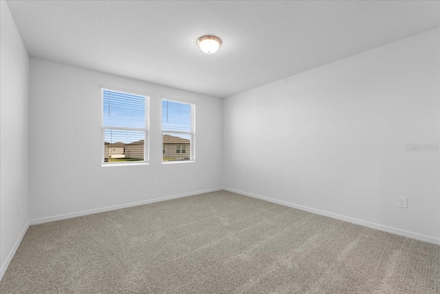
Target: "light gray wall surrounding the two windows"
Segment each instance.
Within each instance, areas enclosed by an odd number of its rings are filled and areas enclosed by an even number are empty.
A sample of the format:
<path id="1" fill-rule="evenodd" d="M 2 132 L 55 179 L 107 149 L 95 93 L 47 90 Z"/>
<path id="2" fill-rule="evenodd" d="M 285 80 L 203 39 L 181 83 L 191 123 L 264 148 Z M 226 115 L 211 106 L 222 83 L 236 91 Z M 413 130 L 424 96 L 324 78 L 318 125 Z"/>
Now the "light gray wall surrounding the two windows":
<path id="1" fill-rule="evenodd" d="M 33 58 L 30 81 L 32 220 L 221 187 L 219 98 Z M 150 96 L 149 165 L 101 167 L 101 85 Z M 162 164 L 162 95 L 196 103 L 196 162 Z"/>

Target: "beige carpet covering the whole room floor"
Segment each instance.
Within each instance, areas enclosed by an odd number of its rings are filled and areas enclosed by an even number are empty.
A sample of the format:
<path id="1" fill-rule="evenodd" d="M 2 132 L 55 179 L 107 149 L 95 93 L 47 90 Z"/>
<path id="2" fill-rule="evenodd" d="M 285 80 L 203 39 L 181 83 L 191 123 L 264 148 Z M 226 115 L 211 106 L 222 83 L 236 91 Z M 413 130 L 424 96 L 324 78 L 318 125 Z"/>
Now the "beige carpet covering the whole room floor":
<path id="1" fill-rule="evenodd" d="M 219 191 L 32 226 L 1 293 L 440 293 L 440 246 Z"/>

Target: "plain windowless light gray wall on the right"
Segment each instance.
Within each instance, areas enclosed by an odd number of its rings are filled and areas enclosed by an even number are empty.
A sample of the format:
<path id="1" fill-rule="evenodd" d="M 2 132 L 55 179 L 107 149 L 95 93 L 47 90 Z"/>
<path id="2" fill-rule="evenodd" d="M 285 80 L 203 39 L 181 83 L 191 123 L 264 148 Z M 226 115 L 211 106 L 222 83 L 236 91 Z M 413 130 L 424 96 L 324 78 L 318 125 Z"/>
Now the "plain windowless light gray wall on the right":
<path id="1" fill-rule="evenodd" d="M 440 152 L 406 150 L 440 143 L 439 52 L 437 29 L 225 98 L 224 186 L 440 242 Z"/>

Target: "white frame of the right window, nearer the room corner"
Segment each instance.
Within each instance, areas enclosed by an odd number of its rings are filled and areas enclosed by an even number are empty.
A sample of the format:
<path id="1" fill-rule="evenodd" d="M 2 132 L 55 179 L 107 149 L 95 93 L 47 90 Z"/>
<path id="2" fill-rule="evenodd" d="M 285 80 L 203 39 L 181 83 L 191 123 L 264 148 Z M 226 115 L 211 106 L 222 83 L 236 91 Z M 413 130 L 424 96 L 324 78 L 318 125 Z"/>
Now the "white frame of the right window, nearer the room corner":
<path id="1" fill-rule="evenodd" d="M 187 104 L 190 105 L 190 118 L 192 118 L 191 126 L 192 129 L 190 132 L 186 131 L 180 131 L 175 129 L 164 129 L 162 126 L 162 103 L 163 101 L 170 101 L 174 103 L 181 103 L 181 104 Z M 189 160 L 170 160 L 170 161 L 164 161 L 164 154 L 162 154 L 162 165 L 173 165 L 175 163 L 192 163 L 196 160 L 196 103 L 194 101 L 186 101 L 181 100 L 177 98 L 162 96 L 160 100 L 160 129 L 161 129 L 161 135 L 162 135 L 162 146 L 164 146 L 164 133 L 174 133 L 174 134 L 189 134 L 190 135 L 190 147 L 189 147 Z M 187 150 L 187 149 L 186 149 Z M 188 154 L 185 152 L 185 154 Z"/>

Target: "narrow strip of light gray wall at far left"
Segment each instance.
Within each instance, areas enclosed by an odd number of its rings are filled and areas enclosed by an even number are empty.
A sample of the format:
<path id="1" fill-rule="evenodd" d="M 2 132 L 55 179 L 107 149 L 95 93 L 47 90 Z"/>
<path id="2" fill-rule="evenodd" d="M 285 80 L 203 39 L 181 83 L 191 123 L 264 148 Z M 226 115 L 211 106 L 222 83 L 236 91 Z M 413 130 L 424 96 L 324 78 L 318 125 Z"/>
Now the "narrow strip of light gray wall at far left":
<path id="1" fill-rule="evenodd" d="M 5 1 L 0 1 L 0 264 L 1 276 L 29 219 L 29 57 Z M 20 213 L 18 202 L 20 201 Z"/>

